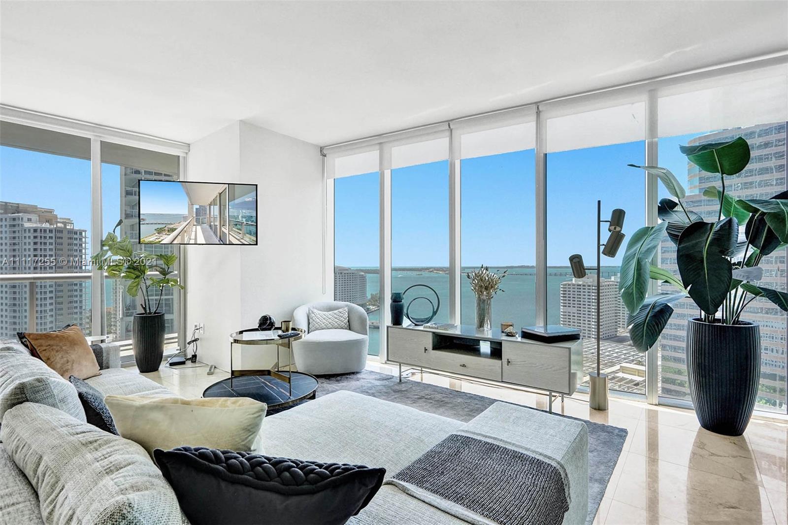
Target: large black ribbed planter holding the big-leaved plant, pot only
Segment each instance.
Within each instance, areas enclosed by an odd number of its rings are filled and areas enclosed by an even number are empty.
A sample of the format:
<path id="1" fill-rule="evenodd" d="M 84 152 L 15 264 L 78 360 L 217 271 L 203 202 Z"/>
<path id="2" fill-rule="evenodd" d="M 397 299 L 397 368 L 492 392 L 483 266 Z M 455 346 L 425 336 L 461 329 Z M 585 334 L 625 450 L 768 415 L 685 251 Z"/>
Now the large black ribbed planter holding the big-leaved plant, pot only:
<path id="1" fill-rule="evenodd" d="M 686 351 L 689 395 L 701 426 L 726 436 L 744 434 L 758 394 L 758 325 L 689 319 Z"/>

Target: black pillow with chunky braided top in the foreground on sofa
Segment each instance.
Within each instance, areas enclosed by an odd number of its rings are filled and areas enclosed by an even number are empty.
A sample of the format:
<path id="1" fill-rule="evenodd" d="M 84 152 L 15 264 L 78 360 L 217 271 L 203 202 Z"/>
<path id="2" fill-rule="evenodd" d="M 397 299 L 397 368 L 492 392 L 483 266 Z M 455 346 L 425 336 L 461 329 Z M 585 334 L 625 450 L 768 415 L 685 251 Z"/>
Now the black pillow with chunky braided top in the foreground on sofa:
<path id="1" fill-rule="evenodd" d="M 340 525 L 366 507 L 386 473 L 206 447 L 155 449 L 153 456 L 193 525 Z"/>

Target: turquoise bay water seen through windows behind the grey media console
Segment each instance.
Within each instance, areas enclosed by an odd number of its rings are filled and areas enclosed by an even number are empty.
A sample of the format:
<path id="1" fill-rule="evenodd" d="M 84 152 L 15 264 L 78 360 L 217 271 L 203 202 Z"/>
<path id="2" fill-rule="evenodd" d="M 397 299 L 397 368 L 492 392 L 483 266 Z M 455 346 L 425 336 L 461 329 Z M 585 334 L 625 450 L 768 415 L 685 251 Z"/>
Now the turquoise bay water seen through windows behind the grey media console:
<path id="1" fill-rule="evenodd" d="M 355 268 L 355 270 L 369 270 Z M 471 325 L 475 322 L 476 296 L 470 289 L 470 281 L 466 273 L 474 268 L 463 268 L 460 281 L 460 318 L 462 324 Z M 503 273 L 505 268 L 491 267 L 496 273 Z M 380 290 L 380 277 L 375 273 L 366 273 L 366 295 L 371 296 Z M 492 326 L 500 326 L 501 322 L 515 323 L 515 329 L 536 324 L 536 270 L 533 267 L 508 268 L 507 276 L 501 281 L 501 289 L 492 299 Z M 603 266 L 602 276 L 611 277 L 619 273 L 619 266 Z M 560 321 L 560 286 L 563 281 L 572 278 L 568 266 L 548 266 L 548 323 L 559 324 Z M 448 273 L 440 274 L 427 270 L 392 270 L 392 291 L 403 292 L 411 285 L 429 285 L 440 298 L 440 307 L 435 322 L 448 322 Z M 417 292 L 418 293 L 415 293 Z M 405 306 L 416 296 L 426 296 L 435 302 L 434 295 L 427 289 L 412 289 L 407 292 Z M 426 301 L 414 302 L 411 314 L 426 315 L 430 311 Z M 370 312 L 370 321 L 380 321 L 380 311 Z M 381 330 L 370 330 L 370 354 L 377 356 L 380 348 Z"/>

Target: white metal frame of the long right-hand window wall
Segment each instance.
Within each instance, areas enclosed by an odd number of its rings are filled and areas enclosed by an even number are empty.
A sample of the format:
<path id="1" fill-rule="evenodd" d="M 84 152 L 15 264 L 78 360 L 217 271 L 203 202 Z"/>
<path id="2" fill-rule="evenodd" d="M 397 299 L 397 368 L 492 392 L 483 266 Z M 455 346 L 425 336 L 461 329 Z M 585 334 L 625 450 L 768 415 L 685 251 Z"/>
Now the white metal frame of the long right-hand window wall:
<path id="1" fill-rule="evenodd" d="M 460 235 L 461 235 L 461 184 L 460 184 L 460 165 L 461 155 L 459 155 L 459 140 L 463 132 L 463 128 L 469 122 L 471 125 L 478 125 L 480 128 L 499 128 L 511 125 L 511 121 L 507 117 L 516 112 L 523 110 L 533 109 L 535 117 L 533 118 L 534 136 L 536 142 L 535 148 L 535 202 L 533 203 L 535 210 L 535 228 L 536 228 L 536 242 L 534 255 L 536 259 L 536 290 L 534 301 L 536 303 L 536 322 L 537 324 L 545 324 L 547 322 L 547 115 L 556 114 L 558 108 L 559 114 L 574 114 L 582 113 L 584 111 L 596 110 L 606 105 L 612 106 L 620 104 L 621 101 L 637 101 L 645 103 L 645 121 L 643 122 L 643 136 L 645 137 L 645 163 L 647 166 L 659 166 L 659 96 L 660 89 L 672 88 L 682 86 L 682 84 L 691 84 L 698 80 L 708 80 L 715 82 L 729 81 L 734 78 L 734 75 L 740 73 L 756 73 L 760 74 L 768 68 L 779 67 L 785 70 L 788 66 L 788 56 L 768 57 L 753 60 L 745 63 L 737 63 L 734 65 L 722 65 L 716 69 L 703 69 L 696 72 L 689 72 L 682 75 L 666 76 L 656 80 L 645 81 L 641 83 L 628 84 L 621 87 L 611 87 L 608 90 L 593 91 L 591 93 L 582 93 L 562 99 L 552 101 L 537 102 L 536 104 L 520 106 L 511 110 L 501 110 L 493 112 L 492 114 L 485 114 L 481 116 L 466 117 L 457 119 L 455 121 L 446 121 L 436 125 L 430 125 L 423 128 L 415 128 L 412 130 L 405 130 L 403 132 L 388 133 L 378 137 L 369 139 L 357 140 L 347 144 L 337 144 L 335 146 L 327 146 L 322 148 L 324 157 L 326 151 L 329 151 L 328 158 L 326 158 L 325 173 L 333 173 L 333 158 L 341 157 L 347 151 L 347 155 L 351 155 L 353 151 L 358 151 L 359 147 L 371 149 L 377 144 L 379 152 L 379 176 L 380 176 L 380 229 L 379 236 L 380 246 L 380 297 L 381 297 L 381 362 L 387 360 L 386 341 L 385 341 L 385 326 L 390 324 L 390 316 L 388 313 L 390 295 L 391 295 L 391 150 L 392 144 L 401 143 L 403 139 L 418 141 L 418 136 L 425 136 L 429 133 L 434 133 L 440 130 L 448 130 L 449 134 L 449 319 L 450 322 L 459 322 L 460 312 L 460 277 L 461 277 L 461 254 L 460 254 Z M 522 149 L 530 149 L 526 144 Z M 325 180 L 325 213 L 326 222 L 333 225 L 333 179 L 327 177 Z M 643 198 L 643 206 L 645 208 L 645 225 L 656 225 L 659 222 L 657 218 L 657 203 L 659 202 L 659 182 L 657 177 L 648 174 L 645 178 L 645 189 Z M 593 218 L 589 218 L 592 220 Z M 525 225 L 526 227 L 533 227 L 533 225 Z M 333 228 L 332 228 L 333 230 Z M 333 275 L 333 235 L 326 234 L 324 236 L 326 245 L 325 267 L 326 272 L 330 271 Z M 656 255 L 655 261 L 656 263 Z M 328 274 L 324 275 L 324 279 L 328 281 Z M 649 294 L 657 292 L 657 283 L 651 282 L 649 284 Z M 659 341 L 646 352 L 645 356 L 645 395 L 632 394 L 632 393 L 615 393 L 619 397 L 635 397 L 645 400 L 649 404 L 663 404 L 667 406 L 676 406 L 681 408 L 691 408 L 686 400 L 677 400 L 670 397 L 661 397 L 659 392 Z M 788 395 L 786 395 L 788 397 Z M 786 399 L 788 401 L 788 399 Z M 788 405 L 788 403 L 786 403 Z M 773 417 L 773 411 L 760 411 L 762 415 Z M 779 412 L 776 413 L 779 415 Z"/>

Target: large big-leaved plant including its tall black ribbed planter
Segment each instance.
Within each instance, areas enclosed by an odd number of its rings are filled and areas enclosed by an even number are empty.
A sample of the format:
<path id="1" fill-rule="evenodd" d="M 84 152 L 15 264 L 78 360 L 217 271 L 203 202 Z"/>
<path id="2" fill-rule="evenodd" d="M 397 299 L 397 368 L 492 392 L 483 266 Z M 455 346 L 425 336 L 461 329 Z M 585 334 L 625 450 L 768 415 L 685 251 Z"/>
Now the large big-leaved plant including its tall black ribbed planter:
<path id="1" fill-rule="evenodd" d="M 695 412 L 705 429 L 738 436 L 753 414 L 760 379 L 760 330 L 742 315 L 757 297 L 788 311 L 788 294 L 758 284 L 764 274 L 761 259 L 788 242 L 788 192 L 771 199 L 735 199 L 726 193 L 726 177 L 749 163 L 749 144 L 742 137 L 680 150 L 704 172 L 719 173 L 720 188 L 703 192 L 719 201 L 716 221 L 704 221 L 686 208 L 686 192 L 669 170 L 630 164 L 659 177 L 675 200 L 660 200 L 662 222 L 631 237 L 619 292 L 630 312 L 632 344 L 642 352 L 660 337 L 673 314 L 671 304 L 693 300 L 699 315 L 687 323 L 686 364 Z M 666 234 L 676 246 L 678 276 L 651 264 Z M 674 285 L 678 292 L 646 297 L 649 279 Z"/>

